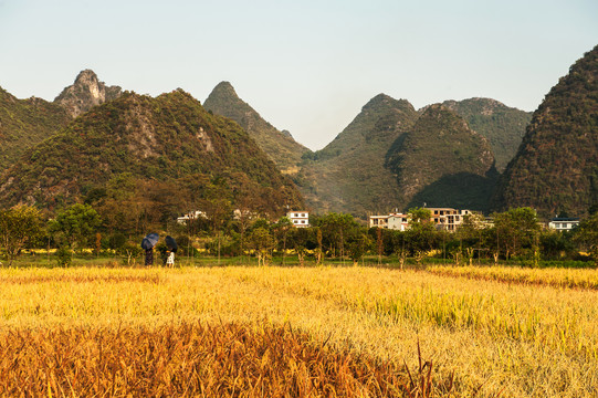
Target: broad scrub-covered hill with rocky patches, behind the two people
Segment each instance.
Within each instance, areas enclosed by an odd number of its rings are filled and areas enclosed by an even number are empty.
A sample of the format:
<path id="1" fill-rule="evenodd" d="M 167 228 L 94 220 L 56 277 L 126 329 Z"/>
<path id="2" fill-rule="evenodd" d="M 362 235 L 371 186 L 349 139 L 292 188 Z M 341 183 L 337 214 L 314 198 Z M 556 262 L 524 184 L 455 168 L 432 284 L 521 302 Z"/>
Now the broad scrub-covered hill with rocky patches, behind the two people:
<path id="1" fill-rule="evenodd" d="M 123 176 L 145 184 L 148 196 L 166 187 L 168 200 L 186 210 L 214 184 L 219 198 L 253 200 L 263 212 L 303 207 L 293 182 L 237 123 L 182 91 L 156 98 L 124 93 L 75 118 L 0 178 L 0 206 L 97 201 Z"/>

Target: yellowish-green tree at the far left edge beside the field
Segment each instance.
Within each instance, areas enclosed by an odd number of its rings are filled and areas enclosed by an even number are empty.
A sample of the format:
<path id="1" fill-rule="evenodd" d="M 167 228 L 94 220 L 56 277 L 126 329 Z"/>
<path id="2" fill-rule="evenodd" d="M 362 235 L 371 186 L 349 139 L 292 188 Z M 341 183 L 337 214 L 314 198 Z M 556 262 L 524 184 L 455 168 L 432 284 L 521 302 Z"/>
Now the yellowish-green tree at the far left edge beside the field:
<path id="1" fill-rule="evenodd" d="M 0 210 L 0 244 L 4 248 L 9 265 L 22 249 L 42 232 L 40 211 L 29 206 Z"/>

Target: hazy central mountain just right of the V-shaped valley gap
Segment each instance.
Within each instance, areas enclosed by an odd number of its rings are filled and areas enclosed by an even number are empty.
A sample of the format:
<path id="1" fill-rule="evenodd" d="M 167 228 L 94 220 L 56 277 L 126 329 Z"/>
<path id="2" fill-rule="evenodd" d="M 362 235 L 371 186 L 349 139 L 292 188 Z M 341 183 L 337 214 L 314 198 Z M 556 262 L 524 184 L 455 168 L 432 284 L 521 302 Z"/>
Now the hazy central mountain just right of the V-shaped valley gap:
<path id="1" fill-rule="evenodd" d="M 408 132 L 418 113 L 406 100 L 379 94 L 324 149 L 307 158 L 295 179 L 307 205 L 317 212 L 389 211 L 401 189 L 385 167 L 392 143 Z"/>

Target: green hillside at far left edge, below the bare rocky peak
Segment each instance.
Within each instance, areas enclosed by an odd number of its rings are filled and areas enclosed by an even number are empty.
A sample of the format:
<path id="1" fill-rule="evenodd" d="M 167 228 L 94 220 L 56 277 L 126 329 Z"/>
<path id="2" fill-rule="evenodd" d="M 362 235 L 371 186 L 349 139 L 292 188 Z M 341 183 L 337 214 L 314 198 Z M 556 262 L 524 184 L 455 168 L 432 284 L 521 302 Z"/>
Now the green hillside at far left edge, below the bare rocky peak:
<path id="1" fill-rule="evenodd" d="M 0 175 L 29 147 L 70 121 L 71 116 L 56 104 L 35 97 L 18 100 L 0 87 Z"/>

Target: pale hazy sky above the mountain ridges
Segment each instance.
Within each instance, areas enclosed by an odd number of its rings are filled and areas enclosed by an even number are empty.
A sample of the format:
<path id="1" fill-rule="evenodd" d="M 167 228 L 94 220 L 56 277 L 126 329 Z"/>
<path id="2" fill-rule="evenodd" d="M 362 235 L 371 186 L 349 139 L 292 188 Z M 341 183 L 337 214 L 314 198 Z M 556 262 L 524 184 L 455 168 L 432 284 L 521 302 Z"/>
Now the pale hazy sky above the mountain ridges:
<path id="1" fill-rule="evenodd" d="M 0 0 L 0 86 L 107 85 L 203 102 L 221 81 L 316 150 L 374 96 L 535 111 L 598 44 L 597 0 Z"/>

